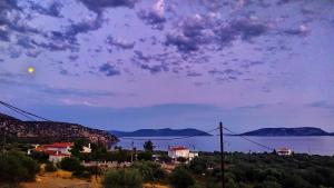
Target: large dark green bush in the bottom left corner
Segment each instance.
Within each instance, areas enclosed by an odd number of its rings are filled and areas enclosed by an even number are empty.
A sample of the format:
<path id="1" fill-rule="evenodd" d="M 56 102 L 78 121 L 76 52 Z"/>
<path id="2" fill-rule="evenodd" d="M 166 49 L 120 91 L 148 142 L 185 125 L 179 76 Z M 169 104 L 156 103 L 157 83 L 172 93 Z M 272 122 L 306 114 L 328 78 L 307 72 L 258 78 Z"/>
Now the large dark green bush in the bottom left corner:
<path id="1" fill-rule="evenodd" d="M 33 180 L 37 172 L 39 172 L 38 162 L 22 154 L 0 155 L 0 182 Z"/>

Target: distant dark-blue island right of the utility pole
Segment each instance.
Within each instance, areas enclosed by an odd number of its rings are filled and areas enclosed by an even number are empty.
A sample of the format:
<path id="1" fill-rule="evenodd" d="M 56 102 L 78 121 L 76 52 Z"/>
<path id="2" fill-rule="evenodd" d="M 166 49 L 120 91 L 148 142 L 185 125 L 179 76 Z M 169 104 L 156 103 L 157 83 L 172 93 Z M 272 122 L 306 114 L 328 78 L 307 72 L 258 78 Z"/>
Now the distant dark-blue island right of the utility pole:
<path id="1" fill-rule="evenodd" d="M 306 137 L 306 136 L 334 136 L 321 128 L 298 127 L 298 128 L 263 128 L 240 135 L 232 136 L 257 136 L 257 137 Z"/>

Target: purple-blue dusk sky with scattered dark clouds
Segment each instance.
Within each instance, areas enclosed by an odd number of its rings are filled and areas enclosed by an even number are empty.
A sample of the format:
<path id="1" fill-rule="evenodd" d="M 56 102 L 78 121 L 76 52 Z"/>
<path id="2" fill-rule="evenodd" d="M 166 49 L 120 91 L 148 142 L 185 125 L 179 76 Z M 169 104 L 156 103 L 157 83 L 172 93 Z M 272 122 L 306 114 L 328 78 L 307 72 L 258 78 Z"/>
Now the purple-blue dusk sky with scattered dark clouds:
<path id="1" fill-rule="evenodd" d="M 0 99 L 55 121 L 334 131 L 333 75 L 333 0 L 0 1 Z"/>

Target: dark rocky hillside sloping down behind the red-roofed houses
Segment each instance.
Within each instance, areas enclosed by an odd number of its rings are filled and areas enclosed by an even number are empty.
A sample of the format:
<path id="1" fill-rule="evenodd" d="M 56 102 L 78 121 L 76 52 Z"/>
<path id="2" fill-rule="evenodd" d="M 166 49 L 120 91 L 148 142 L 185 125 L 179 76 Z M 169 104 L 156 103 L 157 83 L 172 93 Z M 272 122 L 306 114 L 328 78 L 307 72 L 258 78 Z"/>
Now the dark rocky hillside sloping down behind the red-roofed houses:
<path id="1" fill-rule="evenodd" d="M 19 139 L 29 142 L 73 141 L 86 138 L 90 142 L 110 144 L 118 141 L 111 133 L 84 127 L 77 123 L 50 121 L 21 121 L 13 117 L 0 113 L 0 135 L 7 139 Z"/>

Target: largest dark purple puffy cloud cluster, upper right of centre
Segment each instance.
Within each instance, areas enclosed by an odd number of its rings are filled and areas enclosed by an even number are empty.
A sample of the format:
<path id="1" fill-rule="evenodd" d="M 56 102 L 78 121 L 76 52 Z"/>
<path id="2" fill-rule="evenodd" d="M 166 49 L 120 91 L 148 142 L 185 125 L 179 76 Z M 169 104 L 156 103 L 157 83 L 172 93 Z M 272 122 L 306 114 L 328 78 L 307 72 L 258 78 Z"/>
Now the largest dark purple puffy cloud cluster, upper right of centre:
<path id="1" fill-rule="evenodd" d="M 237 39 L 250 41 L 255 37 L 265 34 L 268 29 L 265 23 L 249 18 L 224 23 L 216 17 L 195 14 L 193 18 L 185 19 L 176 32 L 167 33 L 165 44 L 175 46 L 178 51 L 185 53 L 209 44 L 219 47 L 220 50 Z"/>

